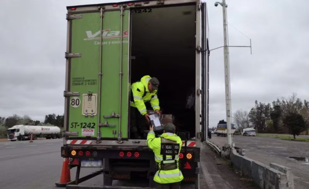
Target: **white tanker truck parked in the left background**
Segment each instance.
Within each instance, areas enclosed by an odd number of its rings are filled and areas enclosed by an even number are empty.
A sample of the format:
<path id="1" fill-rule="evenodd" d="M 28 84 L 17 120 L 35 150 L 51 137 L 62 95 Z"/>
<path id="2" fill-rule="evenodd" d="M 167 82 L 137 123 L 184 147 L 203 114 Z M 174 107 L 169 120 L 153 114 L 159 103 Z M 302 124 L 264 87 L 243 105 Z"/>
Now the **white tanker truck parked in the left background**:
<path id="1" fill-rule="evenodd" d="M 7 129 L 7 138 L 10 141 L 16 140 L 36 140 L 38 137 L 62 138 L 60 128 L 57 126 L 34 126 L 34 125 L 15 125 Z"/>

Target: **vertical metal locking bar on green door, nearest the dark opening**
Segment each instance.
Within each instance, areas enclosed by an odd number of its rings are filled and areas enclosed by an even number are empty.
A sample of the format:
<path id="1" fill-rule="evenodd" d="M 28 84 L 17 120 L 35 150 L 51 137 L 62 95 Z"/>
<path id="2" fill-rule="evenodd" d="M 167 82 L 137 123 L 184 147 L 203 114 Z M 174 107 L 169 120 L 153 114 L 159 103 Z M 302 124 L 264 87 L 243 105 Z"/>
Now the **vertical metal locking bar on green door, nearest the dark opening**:
<path id="1" fill-rule="evenodd" d="M 123 15 L 124 15 L 124 8 L 123 5 L 121 5 L 120 7 L 120 72 L 119 72 L 119 76 L 120 76 L 120 87 L 119 87 L 119 125 L 118 125 L 118 143 L 123 143 L 121 141 L 121 88 L 122 88 L 122 35 L 123 35 Z"/>

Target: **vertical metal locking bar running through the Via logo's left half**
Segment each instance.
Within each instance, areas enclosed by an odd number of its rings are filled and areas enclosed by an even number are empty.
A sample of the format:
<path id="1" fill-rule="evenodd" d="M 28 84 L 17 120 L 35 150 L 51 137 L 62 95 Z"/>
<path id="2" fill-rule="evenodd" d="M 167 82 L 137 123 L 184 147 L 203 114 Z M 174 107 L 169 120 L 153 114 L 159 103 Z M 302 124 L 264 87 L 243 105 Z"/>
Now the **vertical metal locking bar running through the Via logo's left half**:
<path id="1" fill-rule="evenodd" d="M 101 133 L 100 133 L 100 126 L 99 126 L 99 123 L 101 123 L 101 115 L 100 115 L 100 109 L 101 109 L 101 79 L 102 79 L 102 25 L 103 25 L 103 7 L 99 7 L 100 8 L 100 17 L 101 17 L 101 23 L 100 23 L 100 62 L 99 62 L 99 65 L 100 65 L 100 72 L 99 72 L 99 96 L 98 96 L 98 116 L 97 116 L 97 143 L 100 143 L 100 140 L 101 140 Z"/>

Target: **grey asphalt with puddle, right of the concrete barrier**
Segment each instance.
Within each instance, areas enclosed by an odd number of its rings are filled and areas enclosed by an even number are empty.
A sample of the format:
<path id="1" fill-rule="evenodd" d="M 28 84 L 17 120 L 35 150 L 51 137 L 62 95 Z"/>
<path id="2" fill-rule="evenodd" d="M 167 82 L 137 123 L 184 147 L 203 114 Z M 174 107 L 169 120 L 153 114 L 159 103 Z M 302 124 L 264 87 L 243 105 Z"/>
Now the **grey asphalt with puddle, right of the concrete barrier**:
<path id="1" fill-rule="evenodd" d="M 211 142 L 223 146 L 227 143 L 226 137 L 217 137 L 212 134 Z M 270 137 L 244 137 L 234 135 L 233 142 L 236 147 L 245 149 L 245 156 L 262 162 L 278 163 L 290 167 L 294 174 L 294 185 L 297 189 L 307 189 L 309 185 L 309 162 L 297 161 L 289 158 L 309 157 L 309 143 L 282 140 Z"/>

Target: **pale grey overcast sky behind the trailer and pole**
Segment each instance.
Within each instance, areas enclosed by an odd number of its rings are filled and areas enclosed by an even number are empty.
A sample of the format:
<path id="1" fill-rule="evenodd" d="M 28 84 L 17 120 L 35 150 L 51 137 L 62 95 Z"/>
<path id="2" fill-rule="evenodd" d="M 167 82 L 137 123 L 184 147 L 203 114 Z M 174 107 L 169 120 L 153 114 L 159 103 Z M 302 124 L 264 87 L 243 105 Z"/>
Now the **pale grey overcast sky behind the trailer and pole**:
<path id="1" fill-rule="evenodd" d="M 66 6 L 86 0 L 0 1 L 0 116 L 64 112 Z M 93 0 L 91 3 L 110 2 Z M 208 3 L 210 48 L 223 45 L 222 7 Z M 308 99 L 309 12 L 305 0 L 227 0 L 232 112 L 254 100 Z M 235 28 L 237 28 L 237 30 Z M 242 33 L 246 36 L 244 36 Z M 226 119 L 223 48 L 210 56 L 209 127 Z"/>

